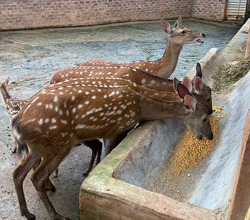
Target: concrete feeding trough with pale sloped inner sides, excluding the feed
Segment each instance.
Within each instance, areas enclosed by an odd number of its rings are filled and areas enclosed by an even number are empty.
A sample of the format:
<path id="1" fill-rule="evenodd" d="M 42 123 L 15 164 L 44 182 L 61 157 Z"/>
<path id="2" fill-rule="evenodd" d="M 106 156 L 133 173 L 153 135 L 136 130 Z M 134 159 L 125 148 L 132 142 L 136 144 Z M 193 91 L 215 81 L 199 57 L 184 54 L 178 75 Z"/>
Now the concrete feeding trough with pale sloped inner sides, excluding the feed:
<path id="1" fill-rule="evenodd" d="M 229 49 L 232 45 L 245 45 L 247 35 L 241 36 L 241 33 L 248 29 L 249 23 L 239 30 Z M 227 65 L 227 53 L 232 58 L 229 49 L 223 53 L 211 49 L 200 61 L 204 81 L 211 87 L 212 76 Z M 193 74 L 194 69 L 188 75 Z M 250 176 L 249 169 L 244 169 L 246 164 L 250 165 L 244 157 L 245 152 L 249 153 L 249 129 L 244 129 L 250 108 L 249 82 L 250 72 L 234 85 L 232 92 L 215 96 L 214 104 L 223 106 L 227 114 L 220 121 L 216 148 L 189 171 L 190 176 L 185 175 L 178 182 L 173 179 L 172 183 L 170 179 L 171 187 L 167 185 L 165 190 L 172 190 L 171 196 L 148 190 L 148 186 L 156 176 L 159 178 L 159 170 L 169 161 L 185 125 L 174 119 L 147 122 L 131 132 L 83 182 L 81 219 L 244 219 L 250 205 L 250 190 L 244 187 L 247 184 L 244 176 Z M 245 149 L 242 152 L 241 146 Z M 240 207 L 239 201 L 244 201 Z"/>

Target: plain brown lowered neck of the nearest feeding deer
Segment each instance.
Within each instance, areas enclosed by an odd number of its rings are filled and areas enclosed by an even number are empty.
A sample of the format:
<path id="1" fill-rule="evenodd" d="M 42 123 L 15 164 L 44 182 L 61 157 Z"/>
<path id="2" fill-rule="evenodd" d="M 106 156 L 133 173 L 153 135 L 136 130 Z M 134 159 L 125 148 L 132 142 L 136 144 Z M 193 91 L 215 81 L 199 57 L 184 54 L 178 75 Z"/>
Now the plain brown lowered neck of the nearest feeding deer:
<path id="1" fill-rule="evenodd" d="M 168 102 L 141 97 L 139 116 L 141 121 L 165 118 L 183 119 L 187 114 L 188 110 L 183 107 L 180 99 Z"/>

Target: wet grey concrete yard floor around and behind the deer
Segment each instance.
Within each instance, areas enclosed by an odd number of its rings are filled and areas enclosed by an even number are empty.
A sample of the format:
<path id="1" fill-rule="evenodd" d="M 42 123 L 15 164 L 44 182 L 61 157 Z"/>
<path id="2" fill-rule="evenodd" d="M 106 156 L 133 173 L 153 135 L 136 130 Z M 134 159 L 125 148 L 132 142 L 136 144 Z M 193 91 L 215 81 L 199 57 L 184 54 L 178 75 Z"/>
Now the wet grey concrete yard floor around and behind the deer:
<path id="1" fill-rule="evenodd" d="M 170 21 L 172 24 L 174 21 Z M 180 54 L 175 73 L 185 75 L 212 47 L 226 46 L 238 28 L 218 26 L 197 20 L 183 20 L 183 26 L 205 32 L 203 46 L 186 46 Z M 166 34 L 160 21 L 96 27 L 13 31 L 0 33 L 0 81 L 10 76 L 14 97 L 29 98 L 49 84 L 59 69 L 91 59 L 118 62 L 156 60 L 165 50 Z M 25 219 L 19 214 L 11 171 L 18 158 L 11 153 L 12 137 L 5 108 L 0 103 L 0 219 Z M 74 149 L 59 167 L 57 187 L 49 196 L 55 208 L 71 219 L 79 219 L 78 194 L 84 180 L 82 173 L 90 160 L 86 147 Z M 37 219 L 49 219 L 29 178 L 24 190 L 28 207 Z"/>

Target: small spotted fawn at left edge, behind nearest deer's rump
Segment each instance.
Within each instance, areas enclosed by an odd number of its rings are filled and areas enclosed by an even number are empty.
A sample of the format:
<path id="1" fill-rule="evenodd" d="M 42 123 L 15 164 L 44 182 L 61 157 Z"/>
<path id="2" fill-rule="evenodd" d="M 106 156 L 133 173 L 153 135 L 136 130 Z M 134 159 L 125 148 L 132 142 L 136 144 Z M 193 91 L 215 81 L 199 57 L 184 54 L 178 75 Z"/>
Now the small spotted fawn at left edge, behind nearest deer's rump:
<path id="1" fill-rule="evenodd" d="M 6 112 L 8 113 L 10 121 L 12 122 L 12 119 L 18 114 L 19 111 L 21 111 L 24 108 L 28 100 L 12 98 L 8 92 L 8 85 L 9 85 L 9 77 L 3 83 L 0 83 L 0 90 L 2 94 L 3 103 L 6 108 Z M 12 153 L 15 153 L 16 150 L 17 150 L 17 143 L 14 140 L 13 148 L 11 151 Z"/>

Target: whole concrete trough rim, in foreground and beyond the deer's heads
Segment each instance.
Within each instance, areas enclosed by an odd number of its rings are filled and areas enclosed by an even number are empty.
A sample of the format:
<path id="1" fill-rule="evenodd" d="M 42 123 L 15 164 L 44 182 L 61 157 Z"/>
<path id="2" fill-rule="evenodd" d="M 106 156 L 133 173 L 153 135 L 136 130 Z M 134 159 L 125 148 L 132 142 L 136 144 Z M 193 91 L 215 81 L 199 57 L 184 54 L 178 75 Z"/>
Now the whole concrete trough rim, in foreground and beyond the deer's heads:
<path id="1" fill-rule="evenodd" d="M 214 74 L 227 65 L 244 57 L 242 47 L 246 45 L 250 19 L 241 27 L 228 46 L 221 52 L 212 48 L 199 62 L 203 70 L 203 81 L 212 87 Z M 195 67 L 187 74 L 195 76 Z M 220 219 L 219 214 L 205 208 L 181 203 L 167 196 L 150 192 L 113 178 L 119 164 L 133 153 L 136 147 L 143 147 L 145 137 L 155 132 L 157 121 L 148 122 L 130 133 L 91 172 L 83 182 L 80 195 L 81 219 Z M 133 141 L 131 141 L 133 140 Z M 206 216 L 206 217 L 205 217 Z"/>

